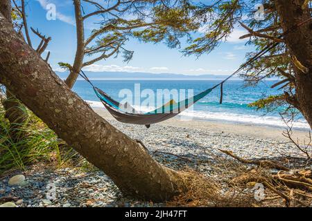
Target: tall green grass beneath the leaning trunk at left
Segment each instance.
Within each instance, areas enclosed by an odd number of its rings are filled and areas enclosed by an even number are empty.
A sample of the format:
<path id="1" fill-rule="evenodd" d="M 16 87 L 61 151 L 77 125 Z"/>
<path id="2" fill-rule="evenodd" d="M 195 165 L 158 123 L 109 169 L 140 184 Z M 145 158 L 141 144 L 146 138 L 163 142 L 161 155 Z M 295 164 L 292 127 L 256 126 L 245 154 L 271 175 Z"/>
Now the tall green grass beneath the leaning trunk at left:
<path id="1" fill-rule="evenodd" d="M 54 162 L 56 166 L 62 166 L 76 155 L 31 111 L 26 108 L 23 111 L 28 115 L 26 122 L 12 130 L 0 104 L 0 173 L 24 170 L 27 165 L 37 162 Z"/>

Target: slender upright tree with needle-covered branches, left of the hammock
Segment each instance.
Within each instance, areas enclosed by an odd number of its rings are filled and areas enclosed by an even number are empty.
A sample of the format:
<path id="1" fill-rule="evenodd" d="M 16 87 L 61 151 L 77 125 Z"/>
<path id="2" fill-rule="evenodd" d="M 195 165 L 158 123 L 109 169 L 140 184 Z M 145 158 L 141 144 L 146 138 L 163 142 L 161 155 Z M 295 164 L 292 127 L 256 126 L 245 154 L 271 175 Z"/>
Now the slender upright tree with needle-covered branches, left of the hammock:
<path id="1" fill-rule="evenodd" d="M 187 0 L 115 0 L 109 3 L 75 0 L 73 3 L 78 38 L 75 61 L 65 81 L 69 87 L 86 66 L 119 55 L 123 61 L 130 61 L 134 51 L 129 50 L 126 43 L 133 37 L 142 41 L 165 41 L 173 48 L 180 44 L 181 37 L 198 29 L 200 24 L 192 17 L 196 6 Z M 85 36 L 85 21 L 90 17 L 100 17 L 101 22 Z"/>

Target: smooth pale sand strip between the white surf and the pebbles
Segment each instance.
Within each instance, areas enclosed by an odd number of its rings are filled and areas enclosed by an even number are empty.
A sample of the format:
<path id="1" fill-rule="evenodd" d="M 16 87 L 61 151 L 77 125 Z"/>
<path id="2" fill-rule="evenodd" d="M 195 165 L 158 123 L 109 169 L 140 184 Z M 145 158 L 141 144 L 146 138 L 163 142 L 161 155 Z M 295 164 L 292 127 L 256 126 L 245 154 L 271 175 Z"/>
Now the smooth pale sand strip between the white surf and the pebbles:
<path id="1" fill-rule="evenodd" d="M 101 115 L 101 117 L 105 119 L 112 120 L 114 122 L 114 118 L 105 108 L 94 108 L 94 111 Z M 282 135 L 284 128 L 280 127 L 272 127 L 272 126 L 257 126 L 252 124 L 235 124 L 230 122 L 214 122 L 214 121 L 204 121 L 200 119 L 191 119 L 189 121 L 182 120 L 180 117 L 173 117 L 171 119 L 166 120 L 165 122 L 160 122 L 159 124 L 155 124 L 159 126 L 177 126 L 181 128 L 189 128 L 189 129 L 200 129 L 206 130 L 209 132 L 216 133 L 230 133 L 233 135 L 246 135 L 248 137 L 258 137 L 258 138 L 267 138 L 274 139 L 287 142 L 288 138 Z M 144 127 L 144 126 L 139 126 Z M 152 126 L 153 127 L 153 126 Z M 145 127 L 144 127 L 145 128 Z M 295 140 L 297 138 L 299 140 L 307 139 L 307 135 L 309 135 L 309 131 L 299 131 L 293 130 L 293 137 Z"/>

